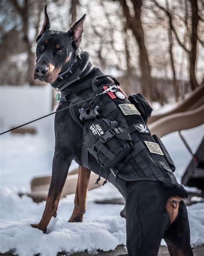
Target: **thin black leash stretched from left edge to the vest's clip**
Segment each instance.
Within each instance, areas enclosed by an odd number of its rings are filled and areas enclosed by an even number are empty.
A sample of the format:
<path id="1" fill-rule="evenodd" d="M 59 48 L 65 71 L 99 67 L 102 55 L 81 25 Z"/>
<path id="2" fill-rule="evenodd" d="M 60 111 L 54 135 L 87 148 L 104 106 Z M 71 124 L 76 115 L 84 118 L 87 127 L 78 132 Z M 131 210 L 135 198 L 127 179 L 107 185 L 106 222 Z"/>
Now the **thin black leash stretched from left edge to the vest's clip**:
<path id="1" fill-rule="evenodd" d="M 32 121 L 30 121 L 30 122 L 28 122 L 28 123 L 25 123 L 25 124 L 23 124 L 23 125 L 19 125 L 19 126 L 15 127 L 15 128 L 12 128 L 12 129 L 8 130 L 8 131 L 4 131 L 4 132 L 0 133 L 0 135 L 5 134 L 5 133 L 7 133 L 7 132 L 9 132 L 9 131 L 13 131 L 13 130 L 18 129 L 18 128 L 21 128 L 21 127 L 23 127 L 23 126 L 25 126 L 25 125 L 29 125 L 29 124 L 31 124 L 31 123 L 33 123 L 33 122 L 36 122 L 36 121 L 40 120 L 40 119 L 46 118 L 46 117 L 49 116 L 49 115 L 53 115 L 53 114 L 62 112 L 62 111 L 64 111 L 65 109 L 69 109 L 69 108 L 74 107 L 74 106 L 76 106 L 76 105 L 79 105 L 79 104 L 81 104 L 81 103 L 83 103 L 83 102 L 86 102 L 86 101 L 88 101 L 88 100 L 90 100 L 90 99 L 94 99 L 94 98 L 96 98 L 96 97 L 98 97 L 98 96 L 104 95 L 105 93 L 108 93 L 110 90 L 114 90 L 114 89 L 118 89 L 118 86 L 112 85 L 112 86 L 110 86 L 108 89 L 106 89 L 105 91 L 103 91 L 102 93 L 98 93 L 98 94 L 96 94 L 96 95 L 94 95 L 94 96 L 92 96 L 92 97 L 90 97 L 90 98 L 88 98 L 88 99 L 84 99 L 84 100 L 81 100 L 81 101 L 79 101 L 79 102 L 77 102 L 77 103 L 74 103 L 74 104 L 71 105 L 71 106 L 67 106 L 67 107 L 65 107 L 65 108 L 63 108 L 63 109 L 59 109 L 59 110 L 57 110 L 57 111 L 55 111 L 55 112 L 52 112 L 52 113 L 50 113 L 50 114 L 48 114 L 48 115 L 43 115 L 43 116 L 41 116 L 40 118 L 34 119 L 34 120 L 32 120 Z"/>

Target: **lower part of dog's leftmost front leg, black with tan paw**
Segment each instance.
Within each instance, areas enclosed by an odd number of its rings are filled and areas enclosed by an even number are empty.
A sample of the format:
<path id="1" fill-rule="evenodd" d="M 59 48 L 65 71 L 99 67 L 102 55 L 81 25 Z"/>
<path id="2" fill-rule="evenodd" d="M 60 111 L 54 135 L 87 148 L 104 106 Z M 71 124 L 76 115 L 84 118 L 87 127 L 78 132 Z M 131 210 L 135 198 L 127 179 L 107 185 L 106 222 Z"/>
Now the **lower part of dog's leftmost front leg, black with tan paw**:
<path id="1" fill-rule="evenodd" d="M 46 199 L 45 210 L 43 216 L 38 224 L 31 224 L 32 227 L 38 228 L 46 232 L 46 227 L 49 224 L 50 219 L 56 217 L 59 199 L 64 187 L 68 169 L 72 159 L 65 159 L 60 154 L 55 152 L 53 158 L 53 172 L 49 186 L 49 192 Z"/>

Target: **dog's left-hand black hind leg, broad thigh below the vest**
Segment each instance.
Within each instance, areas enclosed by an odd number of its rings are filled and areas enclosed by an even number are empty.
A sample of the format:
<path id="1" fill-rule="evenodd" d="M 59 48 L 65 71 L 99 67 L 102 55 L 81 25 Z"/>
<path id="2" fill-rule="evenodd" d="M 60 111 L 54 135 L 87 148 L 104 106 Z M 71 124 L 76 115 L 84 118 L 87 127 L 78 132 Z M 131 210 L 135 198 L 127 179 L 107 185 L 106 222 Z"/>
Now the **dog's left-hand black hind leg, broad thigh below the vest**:
<path id="1" fill-rule="evenodd" d="M 127 187 L 126 231 L 129 256 L 157 256 L 169 217 L 155 182 L 133 182 Z"/>

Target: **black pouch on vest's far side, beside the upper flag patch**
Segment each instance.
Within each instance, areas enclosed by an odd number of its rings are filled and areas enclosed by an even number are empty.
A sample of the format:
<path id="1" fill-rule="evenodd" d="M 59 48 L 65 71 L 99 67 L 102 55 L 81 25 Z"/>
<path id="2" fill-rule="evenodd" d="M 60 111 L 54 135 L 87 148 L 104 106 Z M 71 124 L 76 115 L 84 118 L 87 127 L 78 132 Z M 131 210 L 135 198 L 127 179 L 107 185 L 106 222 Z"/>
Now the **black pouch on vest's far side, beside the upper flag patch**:
<path id="1" fill-rule="evenodd" d="M 130 95 L 128 100 L 136 106 L 139 110 L 141 117 L 145 121 L 145 124 L 148 121 L 148 118 L 151 116 L 152 108 L 142 94 L 138 93 L 135 95 Z"/>

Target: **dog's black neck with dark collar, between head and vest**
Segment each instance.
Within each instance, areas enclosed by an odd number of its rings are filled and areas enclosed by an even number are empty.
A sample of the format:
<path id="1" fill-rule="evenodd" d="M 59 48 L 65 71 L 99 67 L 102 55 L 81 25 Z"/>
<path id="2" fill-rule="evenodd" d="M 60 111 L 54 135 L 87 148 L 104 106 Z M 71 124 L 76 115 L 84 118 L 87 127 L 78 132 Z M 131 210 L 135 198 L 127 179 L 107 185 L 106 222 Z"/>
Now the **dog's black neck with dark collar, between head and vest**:
<path id="1" fill-rule="evenodd" d="M 58 88 L 58 90 L 63 91 L 75 81 L 80 80 L 82 77 L 85 77 L 92 70 L 92 64 L 89 61 L 89 54 L 86 51 L 83 51 L 80 57 L 75 56 L 69 67 L 71 67 L 72 64 L 73 72 L 65 79 L 60 78 L 59 74 L 57 80 L 55 80 L 54 83 L 51 83 L 52 87 Z"/>

